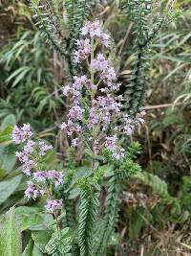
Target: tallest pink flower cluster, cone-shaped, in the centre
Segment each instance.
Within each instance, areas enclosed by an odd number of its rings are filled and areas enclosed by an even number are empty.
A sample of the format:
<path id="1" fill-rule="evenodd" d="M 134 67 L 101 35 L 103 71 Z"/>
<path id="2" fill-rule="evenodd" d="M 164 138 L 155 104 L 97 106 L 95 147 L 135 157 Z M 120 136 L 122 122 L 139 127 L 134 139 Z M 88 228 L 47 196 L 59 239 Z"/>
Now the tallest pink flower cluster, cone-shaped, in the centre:
<path id="1" fill-rule="evenodd" d="M 67 122 L 60 128 L 72 138 L 72 145 L 77 146 L 80 136 L 92 143 L 92 150 L 98 153 L 102 147 L 112 151 L 117 159 L 124 156 L 124 149 L 120 147 L 118 133 L 131 135 L 138 124 L 143 124 L 144 112 L 136 118 L 131 118 L 121 111 L 122 95 L 117 95 L 120 83 L 117 74 L 109 60 L 100 52 L 96 53 L 96 46 L 110 45 L 110 36 L 105 34 L 99 21 L 87 22 L 81 30 L 82 39 L 77 41 L 74 61 L 79 63 L 88 59 L 90 78 L 87 76 L 74 77 L 72 85 L 63 87 L 64 96 L 71 99 L 71 107 L 67 115 Z M 90 61 L 89 61 L 90 58 Z M 87 92 L 84 97 L 84 92 Z"/>

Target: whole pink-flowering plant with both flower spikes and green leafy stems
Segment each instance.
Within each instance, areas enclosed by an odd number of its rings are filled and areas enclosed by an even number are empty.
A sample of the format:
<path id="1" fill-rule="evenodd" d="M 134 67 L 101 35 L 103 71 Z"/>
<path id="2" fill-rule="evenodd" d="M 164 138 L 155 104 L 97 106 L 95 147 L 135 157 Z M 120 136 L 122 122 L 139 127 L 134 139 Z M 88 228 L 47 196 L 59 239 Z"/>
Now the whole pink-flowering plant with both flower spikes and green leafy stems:
<path id="1" fill-rule="evenodd" d="M 88 151 L 91 158 L 89 174 L 74 182 L 79 190 L 79 207 L 74 205 L 77 223 L 71 220 L 73 213 L 71 207 L 68 207 L 75 171 L 71 176 L 70 170 L 63 173 L 46 169 L 43 157 L 53 147 L 45 141 L 35 141 L 30 125 L 25 124 L 21 128 L 15 126 L 12 139 L 16 144 L 23 145 L 16 156 L 22 163 L 23 173 L 30 179 L 25 197 L 46 198 L 46 211 L 56 223 L 46 253 L 72 255 L 76 249 L 80 256 L 102 256 L 117 223 L 117 198 L 121 191 L 121 181 L 139 171 L 138 164 L 133 161 L 138 144 L 124 148 L 123 140 L 133 134 L 136 126 L 144 123 L 145 112 L 132 117 L 122 111 L 120 83 L 117 82 L 117 74 L 107 54 L 103 54 L 112 45 L 111 37 L 101 29 L 99 21 L 87 22 L 80 35 L 81 38 L 76 42 L 74 61 L 82 69 L 87 65 L 89 73 L 86 76 L 74 76 L 72 84 L 63 86 L 63 95 L 70 100 L 70 108 L 67 120 L 60 125 L 72 147 Z M 98 160 L 100 156 L 102 162 Z M 104 173 L 104 162 L 112 165 L 109 175 Z M 98 214 L 98 198 L 102 193 L 101 182 L 107 176 L 108 194 L 105 198 L 105 212 L 101 215 Z M 66 220 L 60 222 L 63 212 Z M 68 227 L 73 235 L 70 235 L 70 240 L 65 240 Z M 75 233 L 77 236 L 74 236 Z"/>

